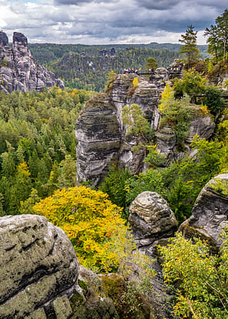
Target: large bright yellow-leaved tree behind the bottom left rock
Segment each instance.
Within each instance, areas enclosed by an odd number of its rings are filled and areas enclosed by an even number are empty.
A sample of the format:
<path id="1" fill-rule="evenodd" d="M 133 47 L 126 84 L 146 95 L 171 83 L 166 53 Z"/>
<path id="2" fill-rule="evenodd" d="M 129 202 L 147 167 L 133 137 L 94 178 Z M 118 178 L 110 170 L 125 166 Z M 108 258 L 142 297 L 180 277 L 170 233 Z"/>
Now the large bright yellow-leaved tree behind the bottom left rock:
<path id="1" fill-rule="evenodd" d="M 84 186 L 57 190 L 33 206 L 66 232 L 81 265 L 100 272 L 112 271 L 125 258 L 128 227 L 121 210 L 108 194 Z"/>

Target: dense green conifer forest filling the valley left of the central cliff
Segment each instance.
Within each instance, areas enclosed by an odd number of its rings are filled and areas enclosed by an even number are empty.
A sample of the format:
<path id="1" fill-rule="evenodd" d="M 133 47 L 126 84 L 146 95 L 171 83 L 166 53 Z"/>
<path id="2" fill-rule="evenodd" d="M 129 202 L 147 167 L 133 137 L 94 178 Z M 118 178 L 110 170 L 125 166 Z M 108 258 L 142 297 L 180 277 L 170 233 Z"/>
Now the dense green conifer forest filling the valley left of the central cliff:
<path id="1" fill-rule="evenodd" d="M 90 96 L 59 88 L 0 93 L 1 216 L 76 184 L 75 123 Z"/>

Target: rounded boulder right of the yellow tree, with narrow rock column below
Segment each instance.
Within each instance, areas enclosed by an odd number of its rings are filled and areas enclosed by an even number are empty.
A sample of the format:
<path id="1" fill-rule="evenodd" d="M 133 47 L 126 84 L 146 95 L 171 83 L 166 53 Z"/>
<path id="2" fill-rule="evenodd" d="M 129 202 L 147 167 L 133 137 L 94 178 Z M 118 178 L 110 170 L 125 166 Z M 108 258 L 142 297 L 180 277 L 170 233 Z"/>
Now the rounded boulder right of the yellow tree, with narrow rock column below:
<path id="1" fill-rule="evenodd" d="M 175 215 L 165 199 L 155 192 L 142 192 L 130 206 L 129 224 L 139 251 L 151 258 L 156 271 L 149 302 L 156 319 L 172 318 L 170 293 L 162 278 L 162 268 L 157 261 L 156 245 L 167 244 L 177 230 Z"/>

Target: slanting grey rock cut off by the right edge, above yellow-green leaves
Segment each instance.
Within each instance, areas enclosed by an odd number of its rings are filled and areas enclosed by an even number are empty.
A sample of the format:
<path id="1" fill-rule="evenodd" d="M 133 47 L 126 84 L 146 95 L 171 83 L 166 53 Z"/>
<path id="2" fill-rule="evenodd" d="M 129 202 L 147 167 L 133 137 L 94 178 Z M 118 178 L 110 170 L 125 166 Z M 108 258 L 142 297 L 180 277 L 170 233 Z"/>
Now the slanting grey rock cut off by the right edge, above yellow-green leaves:
<path id="1" fill-rule="evenodd" d="M 227 187 L 228 174 L 214 177 L 199 193 L 192 215 L 180 226 L 185 238 L 195 236 L 209 241 L 214 247 L 222 245 L 219 235 L 228 224 L 228 197 L 216 186 L 220 182 Z"/>

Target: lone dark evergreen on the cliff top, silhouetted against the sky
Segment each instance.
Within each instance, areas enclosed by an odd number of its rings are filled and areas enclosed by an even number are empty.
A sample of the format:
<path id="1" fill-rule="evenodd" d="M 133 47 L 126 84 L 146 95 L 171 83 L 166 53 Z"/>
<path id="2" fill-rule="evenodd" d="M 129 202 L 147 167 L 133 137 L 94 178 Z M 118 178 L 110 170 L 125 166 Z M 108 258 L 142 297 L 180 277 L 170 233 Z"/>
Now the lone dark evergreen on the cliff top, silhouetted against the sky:
<path id="1" fill-rule="evenodd" d="M 190 69 L 198 61 L 200 57 L 199 48 L 197 48 L 197 31 L 193 31 L 194 26 L 192 24 L 187 26 L 185 34 L 181 35 L 179 40 L 183 43 L 180 47 L 179 53 L 185 53 L 187 56 L 187 68 Z"/>

